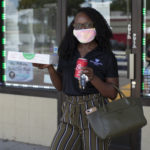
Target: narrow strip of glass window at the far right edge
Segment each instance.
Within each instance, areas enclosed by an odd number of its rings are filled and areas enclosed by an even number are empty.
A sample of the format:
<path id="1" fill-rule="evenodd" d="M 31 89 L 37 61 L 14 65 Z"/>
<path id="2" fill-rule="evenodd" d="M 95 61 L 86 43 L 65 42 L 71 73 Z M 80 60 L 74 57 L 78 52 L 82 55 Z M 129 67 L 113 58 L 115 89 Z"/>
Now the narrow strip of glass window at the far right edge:
<path id="1" fill-rule="evenodd" d="M 150 96 L 150 1 L 143 0 L 143 95 Z"/>

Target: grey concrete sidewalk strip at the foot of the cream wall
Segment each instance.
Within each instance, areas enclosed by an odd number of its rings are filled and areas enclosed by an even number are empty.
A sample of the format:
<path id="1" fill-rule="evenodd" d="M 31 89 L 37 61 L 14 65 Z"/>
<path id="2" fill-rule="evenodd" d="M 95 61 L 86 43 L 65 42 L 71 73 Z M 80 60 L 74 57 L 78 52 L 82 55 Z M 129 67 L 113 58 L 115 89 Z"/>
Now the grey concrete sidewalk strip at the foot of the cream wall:
<path id="1" fill-rule="evenodd" d="M 0 150 L 49 150 L 49 147 L 0 139 Z"/>

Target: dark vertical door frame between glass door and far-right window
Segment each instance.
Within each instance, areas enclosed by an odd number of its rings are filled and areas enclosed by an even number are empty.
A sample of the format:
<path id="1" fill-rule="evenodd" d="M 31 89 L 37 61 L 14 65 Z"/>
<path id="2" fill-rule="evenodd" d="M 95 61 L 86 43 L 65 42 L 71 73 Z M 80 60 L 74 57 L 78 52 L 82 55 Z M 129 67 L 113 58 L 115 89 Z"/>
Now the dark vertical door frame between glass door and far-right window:
<path id="1" fill-rule="evenodd" d="M 143 0 L 132 0 L 132 53 L 135 55 L 135 78 L 131 80 L 131 96 L 141 98 L 144 106 L 150 106 L 150 98 L 142 95 L 142 12 Z"/>

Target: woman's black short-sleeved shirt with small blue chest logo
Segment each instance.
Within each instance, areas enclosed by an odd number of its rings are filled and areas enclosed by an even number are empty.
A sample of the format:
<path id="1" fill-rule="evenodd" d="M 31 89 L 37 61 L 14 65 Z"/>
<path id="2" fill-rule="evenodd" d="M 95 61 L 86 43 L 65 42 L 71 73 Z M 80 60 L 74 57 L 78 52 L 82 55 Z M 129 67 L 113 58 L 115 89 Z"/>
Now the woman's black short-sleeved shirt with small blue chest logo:
<path id="1" fill-rule="evenodd" d="M 90 82 L 87 82 L 84 90 L 79 88 L 78 80 L 74 77 L 78 58 L 80 58 L 80 54 L 77 51 L 71 60 L 59 60 L 57 72 L 62 74 L 63 92 L 72 96 L 99 93 Z M 94 75 L 101 80 L 105 81 L 109 77 L 118 77 L 117 61 L 112 52 L 102 52 L 97 47 L 84 58 L 88 60 L 88 67 L 93 68 Z"/>

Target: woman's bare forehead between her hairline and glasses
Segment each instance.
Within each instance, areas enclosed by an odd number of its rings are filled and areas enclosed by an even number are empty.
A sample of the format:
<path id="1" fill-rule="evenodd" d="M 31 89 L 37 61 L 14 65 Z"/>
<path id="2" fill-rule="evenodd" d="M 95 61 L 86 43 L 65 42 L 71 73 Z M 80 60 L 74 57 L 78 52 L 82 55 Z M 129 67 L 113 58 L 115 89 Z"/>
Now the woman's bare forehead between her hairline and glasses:
<path id="1" fill-rule="evenodd" d="M 75 23 L 86 23 L 92 22 L 92 20 L 83 12 L 78 13 L 74 19 Z"/>

